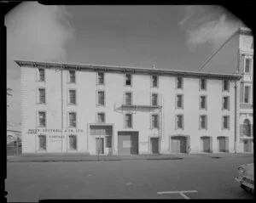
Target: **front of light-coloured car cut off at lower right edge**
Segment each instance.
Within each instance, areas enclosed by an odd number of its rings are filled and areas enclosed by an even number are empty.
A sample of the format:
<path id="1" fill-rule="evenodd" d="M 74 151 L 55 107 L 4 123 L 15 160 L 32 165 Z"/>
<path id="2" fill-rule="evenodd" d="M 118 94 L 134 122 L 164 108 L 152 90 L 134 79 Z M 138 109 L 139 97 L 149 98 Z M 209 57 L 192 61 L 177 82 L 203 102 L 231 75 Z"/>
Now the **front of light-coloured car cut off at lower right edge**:
<path id="1" fill-rule="evenodd" d="M 254 193 L 254 163 L 238 166 L 237 171 L 236 182 L 240 183 L 242 189 Z"/>

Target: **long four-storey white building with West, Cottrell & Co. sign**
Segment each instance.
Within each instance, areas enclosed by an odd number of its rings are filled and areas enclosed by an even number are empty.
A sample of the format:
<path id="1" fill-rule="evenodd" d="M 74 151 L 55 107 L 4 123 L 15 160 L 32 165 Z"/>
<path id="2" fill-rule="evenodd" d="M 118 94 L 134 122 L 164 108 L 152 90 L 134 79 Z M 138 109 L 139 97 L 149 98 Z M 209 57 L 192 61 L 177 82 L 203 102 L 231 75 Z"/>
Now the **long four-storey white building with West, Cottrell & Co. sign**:
<path id="1" fill-rule="evenodd" d="M 238 74 L 15 62 L 23 153 L 235 152 Z"/>

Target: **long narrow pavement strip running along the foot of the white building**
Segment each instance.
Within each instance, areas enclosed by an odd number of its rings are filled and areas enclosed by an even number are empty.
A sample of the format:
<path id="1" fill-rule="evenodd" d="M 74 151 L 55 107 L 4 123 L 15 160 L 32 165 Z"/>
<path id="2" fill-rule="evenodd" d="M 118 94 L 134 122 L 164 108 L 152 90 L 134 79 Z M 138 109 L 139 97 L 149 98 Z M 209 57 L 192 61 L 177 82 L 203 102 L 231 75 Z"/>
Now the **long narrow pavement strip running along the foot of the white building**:
<path id="1" fill-rule="evenodd" d="M 245 153 L 203 153 L 203 154 L 172 154 L 172 155 L 88 155 L 76 154 L 26 154 L 7 156 L 8 162 L 68 162 L 68 161 L 137 161 L 137 160 L 183 160 L 190 158 L 237 158 L 253 157 Z"/>

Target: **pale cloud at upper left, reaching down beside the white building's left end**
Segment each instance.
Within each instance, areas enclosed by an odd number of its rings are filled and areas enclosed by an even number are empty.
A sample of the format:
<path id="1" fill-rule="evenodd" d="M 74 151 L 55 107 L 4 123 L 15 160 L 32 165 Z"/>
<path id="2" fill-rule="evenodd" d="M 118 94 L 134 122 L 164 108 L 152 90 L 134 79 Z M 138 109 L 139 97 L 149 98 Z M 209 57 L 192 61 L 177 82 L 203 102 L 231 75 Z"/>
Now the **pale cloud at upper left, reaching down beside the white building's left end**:
<path id="1" fill-rule="evenodd" d="M 72 15 L 64 6 L 44 6 L 36 2 L 20 3 L 5 16 L 7 28 L 8 120 L 20 122 L 20 67 L 14 59 L 65 61 L 67 42 L 75 30 L 69 24 Z M 14 128 L 15 128 L 14 127 Z"/>

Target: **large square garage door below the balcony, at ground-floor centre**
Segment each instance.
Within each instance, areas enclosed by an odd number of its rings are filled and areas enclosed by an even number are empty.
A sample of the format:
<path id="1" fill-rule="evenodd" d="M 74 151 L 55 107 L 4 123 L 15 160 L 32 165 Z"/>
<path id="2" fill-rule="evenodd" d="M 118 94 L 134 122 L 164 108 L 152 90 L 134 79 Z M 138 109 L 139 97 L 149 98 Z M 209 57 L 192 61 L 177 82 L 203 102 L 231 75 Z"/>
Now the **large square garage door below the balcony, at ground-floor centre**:
<path id="1" fill-rule="evenodd" d="M 138 155 L 138 132 L 118 133 L 118 154 Z"/>

